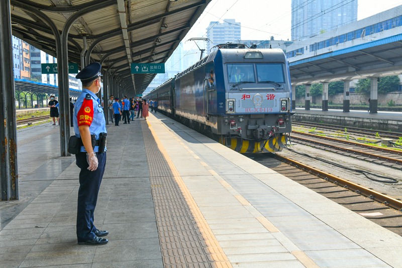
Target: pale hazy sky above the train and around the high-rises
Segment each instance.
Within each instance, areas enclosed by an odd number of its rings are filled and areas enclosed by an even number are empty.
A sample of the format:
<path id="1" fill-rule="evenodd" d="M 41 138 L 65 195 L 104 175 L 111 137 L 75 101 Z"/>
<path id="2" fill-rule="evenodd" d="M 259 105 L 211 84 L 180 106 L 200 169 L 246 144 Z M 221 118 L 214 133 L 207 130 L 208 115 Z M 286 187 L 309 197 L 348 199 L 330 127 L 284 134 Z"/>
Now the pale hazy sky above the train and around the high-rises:
<path id="1" fill-rule="evenodd" d="M 325 0 L 323 0 L 325 1 Z M 357 19 L 361 20 L 379 12 L 402 5 L 402 0 L 357 0 Z M 241 23 L 243 40 L 291 40 L 291 0 L 212 0 L 204 13 L 183 39 L 206 37 L 211 21 L 235 19 Z M 195 46 L 184 43 L 184 49 Z"/>

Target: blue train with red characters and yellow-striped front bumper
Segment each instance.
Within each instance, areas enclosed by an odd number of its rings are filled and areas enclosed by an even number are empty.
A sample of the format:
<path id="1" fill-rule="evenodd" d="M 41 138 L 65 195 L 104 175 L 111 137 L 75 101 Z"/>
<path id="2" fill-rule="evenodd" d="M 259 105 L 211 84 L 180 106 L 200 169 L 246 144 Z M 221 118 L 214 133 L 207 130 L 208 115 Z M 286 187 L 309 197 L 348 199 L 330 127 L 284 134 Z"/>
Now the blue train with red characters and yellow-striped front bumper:
<path id="1" fill-rule="evenodd" d="M 145 98 L 240 153 L 281 151 L 290 140 L 293 114 L 284 52 L 234 43 L 216 48 Z"/>

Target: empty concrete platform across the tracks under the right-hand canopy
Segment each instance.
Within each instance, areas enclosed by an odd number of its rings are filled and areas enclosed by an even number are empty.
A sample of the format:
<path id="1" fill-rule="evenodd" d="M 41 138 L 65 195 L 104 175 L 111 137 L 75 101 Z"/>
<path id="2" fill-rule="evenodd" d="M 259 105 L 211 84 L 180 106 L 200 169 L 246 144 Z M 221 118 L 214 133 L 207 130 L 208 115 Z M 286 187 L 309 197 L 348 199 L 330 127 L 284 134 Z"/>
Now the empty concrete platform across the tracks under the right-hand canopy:
<path id="1" fill-rule="evenodd" d="M 367 128 L 392 132 L 402 132 L 402 113 L 400 112 L 378 112 L 370 114 L 367 111 L 343 112 L 342 110 L 296 108 L 292 116 L 294 121 L 308 121 L 340 126 Z"/>

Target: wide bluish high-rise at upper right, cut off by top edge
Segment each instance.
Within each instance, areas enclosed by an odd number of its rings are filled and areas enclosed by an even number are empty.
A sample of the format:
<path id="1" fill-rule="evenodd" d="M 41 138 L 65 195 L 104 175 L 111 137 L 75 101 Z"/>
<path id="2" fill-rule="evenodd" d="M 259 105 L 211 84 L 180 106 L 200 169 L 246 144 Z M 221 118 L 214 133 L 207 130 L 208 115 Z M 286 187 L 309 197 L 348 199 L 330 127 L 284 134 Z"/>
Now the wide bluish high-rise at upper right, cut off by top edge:
<path id="1" fill-rule="evenodd" d="M 292 0 L 291 8 L 292 40 L 357 21 L 357 0 Z"/>

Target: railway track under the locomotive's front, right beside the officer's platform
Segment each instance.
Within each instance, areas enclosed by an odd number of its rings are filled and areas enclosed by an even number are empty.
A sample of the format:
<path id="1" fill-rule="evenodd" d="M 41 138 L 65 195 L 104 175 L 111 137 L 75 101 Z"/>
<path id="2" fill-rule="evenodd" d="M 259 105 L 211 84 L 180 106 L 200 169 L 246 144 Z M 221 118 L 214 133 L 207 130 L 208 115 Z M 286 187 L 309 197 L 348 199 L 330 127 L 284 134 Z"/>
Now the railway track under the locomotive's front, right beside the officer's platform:
<path id="1" fill-rule="evenodd" d="M 402 235 L 401 200 L 278 154 L 247 156 L 374 223 Z"/>

